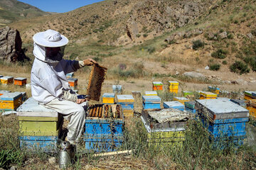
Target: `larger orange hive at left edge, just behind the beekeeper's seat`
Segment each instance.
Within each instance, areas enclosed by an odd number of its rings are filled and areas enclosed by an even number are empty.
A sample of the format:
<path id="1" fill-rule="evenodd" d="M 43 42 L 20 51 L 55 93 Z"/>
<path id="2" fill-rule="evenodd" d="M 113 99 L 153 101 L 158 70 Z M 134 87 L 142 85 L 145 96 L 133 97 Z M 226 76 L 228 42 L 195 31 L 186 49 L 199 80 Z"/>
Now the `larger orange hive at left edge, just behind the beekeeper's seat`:
<path id="1" fill-rule="evenodd" d="M 22 104 L 21 93 L 5 93 L 0 96 L 0 110 L 14 111 Z"/>

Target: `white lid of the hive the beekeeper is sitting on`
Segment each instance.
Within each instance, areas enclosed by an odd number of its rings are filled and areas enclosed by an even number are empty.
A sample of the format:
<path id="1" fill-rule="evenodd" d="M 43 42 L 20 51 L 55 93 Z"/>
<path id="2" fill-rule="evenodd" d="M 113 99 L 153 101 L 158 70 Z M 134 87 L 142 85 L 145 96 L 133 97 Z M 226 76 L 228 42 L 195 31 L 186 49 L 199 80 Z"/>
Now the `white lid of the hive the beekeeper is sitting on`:
<path id="1" fill-rule="evenodd" d="M 35 99 L 28 98 L 17 108 L 18 116 L 58 117 L 58 112 L 41 106 Z"/>

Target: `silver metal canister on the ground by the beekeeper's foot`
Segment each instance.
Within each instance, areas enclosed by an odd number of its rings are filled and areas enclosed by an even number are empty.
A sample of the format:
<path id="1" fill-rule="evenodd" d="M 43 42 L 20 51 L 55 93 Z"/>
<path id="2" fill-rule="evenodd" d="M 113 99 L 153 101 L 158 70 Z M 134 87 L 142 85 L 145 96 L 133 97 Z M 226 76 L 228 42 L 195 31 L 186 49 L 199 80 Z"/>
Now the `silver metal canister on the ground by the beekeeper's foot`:
<path id="1" fill-rule="evenodd" d="M 60 143 L 60 152 L 59 152 L 59 168 L 64 169 L 71 164 L 75 157 L 75 147 L 70 145 L 70 142 L 63 141 Z"/>

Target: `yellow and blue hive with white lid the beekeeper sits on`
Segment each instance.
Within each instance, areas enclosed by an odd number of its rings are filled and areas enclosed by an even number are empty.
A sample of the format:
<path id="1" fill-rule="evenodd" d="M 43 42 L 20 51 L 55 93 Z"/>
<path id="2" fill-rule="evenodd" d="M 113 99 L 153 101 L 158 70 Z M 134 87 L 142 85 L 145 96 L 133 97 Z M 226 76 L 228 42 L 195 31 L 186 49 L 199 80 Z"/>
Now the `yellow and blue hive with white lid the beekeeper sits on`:
<path id="1" fill-rule="evenodd" d="M 28 98 L 18 109 L 20 147 L 56 152 L 63 119 L 58 112 Z"/>

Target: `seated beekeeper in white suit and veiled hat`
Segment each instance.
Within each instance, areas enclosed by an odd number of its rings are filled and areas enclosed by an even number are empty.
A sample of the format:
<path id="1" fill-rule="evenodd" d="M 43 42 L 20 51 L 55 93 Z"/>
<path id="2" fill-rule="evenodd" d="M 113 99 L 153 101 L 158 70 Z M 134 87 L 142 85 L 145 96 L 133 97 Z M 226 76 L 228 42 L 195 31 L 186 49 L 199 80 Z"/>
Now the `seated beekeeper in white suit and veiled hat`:
<path id="1" fill-rule="evenodd" d="M 75 145 L 85 125 L 87 98 L 78 98 L 65 77 L 95 60 L 64 60 L 63 52 L 68 38 L 55 30 L 46 30 L 33 35 L 35 60 L 31 70 L 31 92 L 33 98 L 46 108 L 61 113 L 69 121 L 67 140 Z M 85 102 L 85 103 L 84 103 Z"/>

